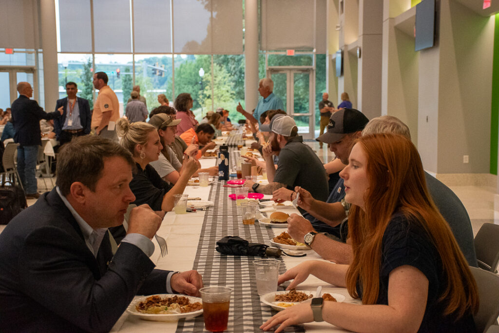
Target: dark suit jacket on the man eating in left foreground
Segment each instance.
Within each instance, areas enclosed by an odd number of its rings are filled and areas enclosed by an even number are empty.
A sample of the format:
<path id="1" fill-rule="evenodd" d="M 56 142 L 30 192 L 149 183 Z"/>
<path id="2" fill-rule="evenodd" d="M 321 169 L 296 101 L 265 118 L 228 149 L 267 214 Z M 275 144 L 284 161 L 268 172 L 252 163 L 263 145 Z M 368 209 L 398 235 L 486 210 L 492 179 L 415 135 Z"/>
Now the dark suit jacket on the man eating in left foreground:
<path id="1" fill-rule="evenodd" d="M 135 295 L 166 293 L 153 268 L 130 243 L 112 257 L 107 236 L 94 258 L 53 189 L 0 234 L 0 332 L 107 332 Z"/>

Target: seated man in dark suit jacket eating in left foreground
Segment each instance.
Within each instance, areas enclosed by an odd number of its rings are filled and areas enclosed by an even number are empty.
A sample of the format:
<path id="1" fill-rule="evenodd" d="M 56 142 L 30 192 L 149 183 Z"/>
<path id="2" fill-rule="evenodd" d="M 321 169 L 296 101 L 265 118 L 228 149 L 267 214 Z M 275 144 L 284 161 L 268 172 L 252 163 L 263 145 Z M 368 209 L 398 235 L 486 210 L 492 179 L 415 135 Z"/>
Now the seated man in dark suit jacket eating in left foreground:
<path id="1" fill-rule="evenodd" d="M 61 147 L 57 187 L 0 234 L 1 332 L 108 332 L 137 294 L 199 294 L 196 271 L 154 269 L 151 238 L 162 219 L 147 205 L 132 210 L 113 255 L 107 228 L 135 200 L 134 165 L 99 136 Z"/>

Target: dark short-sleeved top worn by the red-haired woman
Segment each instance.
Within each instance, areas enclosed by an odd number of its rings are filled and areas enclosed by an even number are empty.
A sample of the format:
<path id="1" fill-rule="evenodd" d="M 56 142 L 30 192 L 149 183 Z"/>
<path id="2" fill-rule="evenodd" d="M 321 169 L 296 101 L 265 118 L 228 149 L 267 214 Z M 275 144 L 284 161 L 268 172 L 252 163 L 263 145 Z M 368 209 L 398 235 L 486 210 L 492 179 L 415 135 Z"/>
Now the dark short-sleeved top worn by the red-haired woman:
<path id="1" fill-rule="evenodd" d="M 444 317 L 445 307 L 438 303 L 446 282 L 442 274 L 442 261 L 430 236 L 419 221 L 409 220 L 396 213 L 383 235 L 379 295 L 376 304 L 388 305 L 388 280 L 390 273 L 404 265 L 417 268 L 428 279 L 428 300 L 425 315 L 418 332 L 476 332 L 471 312 L 457 322 L 452 314 Z M 360 283 L 357 292 L 362 298 Z"/>

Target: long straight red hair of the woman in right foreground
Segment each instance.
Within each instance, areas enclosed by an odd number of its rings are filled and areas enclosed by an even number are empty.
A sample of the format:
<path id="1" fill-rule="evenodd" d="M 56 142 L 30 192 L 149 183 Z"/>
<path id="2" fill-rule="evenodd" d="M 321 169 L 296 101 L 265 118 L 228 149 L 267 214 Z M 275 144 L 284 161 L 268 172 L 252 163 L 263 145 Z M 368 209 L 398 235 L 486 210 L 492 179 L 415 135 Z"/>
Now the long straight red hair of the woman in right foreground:
<path id="1" fill-rule="evenodd" d="M 348 217 L 353 261 L 346 276 L 352 297 L 363 289 L 363 304 L 376 304 L 379 293 L 382 240 L 392 215 L 399 211 L 418 221 L 436 247 L 443 264 L 446 290 L 438 302 L 445 315 L 461 318 L 478 310 L 477 285 L 452 231 L 440 215 L 426 187 L 423 165 L 416 147 L 407 138 L 391 133 L 362 136 L 359 144 L 367 156 L 369 188 L 364 209 L 352 205 Z"/>

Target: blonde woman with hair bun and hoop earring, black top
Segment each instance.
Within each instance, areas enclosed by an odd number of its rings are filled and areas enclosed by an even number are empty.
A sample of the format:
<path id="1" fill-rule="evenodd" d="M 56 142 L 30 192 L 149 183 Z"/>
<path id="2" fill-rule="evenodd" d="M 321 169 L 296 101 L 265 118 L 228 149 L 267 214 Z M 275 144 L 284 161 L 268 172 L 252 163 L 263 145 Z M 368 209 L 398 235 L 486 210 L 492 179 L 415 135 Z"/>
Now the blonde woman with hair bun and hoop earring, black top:
<path id="1" fill-rule="evenodd" d="M 198 169 L 196 160 L 189 157 L 185 171 L 172 187 L 149 165 L 161 154 L 160 137 L 156 127 L 145 122 L 129 123 L 120 118 L 116 130 L 121 138 L 121 145 L 133 155 L 137 170 L 133 173 L 130 189 L 135 195 L 132 204 L 148 204 L 154 211 L 171 211 L 174 206 L 174 194 L 182 194 L 191 176 Z"/>

